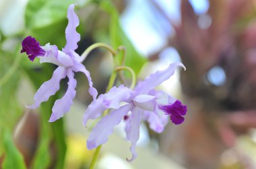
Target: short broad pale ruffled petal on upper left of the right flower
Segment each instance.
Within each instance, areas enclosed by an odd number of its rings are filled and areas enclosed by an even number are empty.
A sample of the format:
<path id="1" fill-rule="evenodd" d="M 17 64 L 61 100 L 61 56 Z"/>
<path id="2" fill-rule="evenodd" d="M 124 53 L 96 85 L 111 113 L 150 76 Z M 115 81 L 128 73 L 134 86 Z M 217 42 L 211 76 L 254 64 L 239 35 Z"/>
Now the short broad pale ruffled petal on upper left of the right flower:
<path id="1" fill-rule="evenodd" d="M 108 109 L 118 109 L 121 101 L 130 102 L 133 91 L 123 84 L 119 87 L 113 87 L 104 95 L 104 106 Z"/>

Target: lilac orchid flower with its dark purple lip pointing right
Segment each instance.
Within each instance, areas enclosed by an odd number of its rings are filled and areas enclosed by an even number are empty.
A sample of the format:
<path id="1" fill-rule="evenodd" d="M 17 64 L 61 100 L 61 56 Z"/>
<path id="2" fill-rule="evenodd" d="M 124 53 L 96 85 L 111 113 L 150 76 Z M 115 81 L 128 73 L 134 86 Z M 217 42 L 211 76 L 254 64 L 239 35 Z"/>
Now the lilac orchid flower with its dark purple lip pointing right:
<path id="1" fill-rule="evenodd" d="M 134 90 L 121 84 L 92 101 L 84 114 L 85 125 L 89 119 L 100 117 L 106 109 L 113 110 L 92 129 L 87 140 L 87 148 L 92 150 L 106 143 L 108 135 L 113 133 L 113 127 L 124 119 L 126 137 L 131 142 L 132 157 L 129 161 L 132 161 L 137 157 L 135 146 L 139 139 L 141 119 L 148 121 L 150 128 L 157 133 L 163 131 L 168 117 L 176 125 L 183 123 L 187 106 L 182 105 L 181 101 L 173 99 L 166 93 L 154 89 L 170 78 L 178 66 L 185 69 L 185 66 L 179 62 L 170 64 L 165 70 L 157 71 L 139 82 Z"/>

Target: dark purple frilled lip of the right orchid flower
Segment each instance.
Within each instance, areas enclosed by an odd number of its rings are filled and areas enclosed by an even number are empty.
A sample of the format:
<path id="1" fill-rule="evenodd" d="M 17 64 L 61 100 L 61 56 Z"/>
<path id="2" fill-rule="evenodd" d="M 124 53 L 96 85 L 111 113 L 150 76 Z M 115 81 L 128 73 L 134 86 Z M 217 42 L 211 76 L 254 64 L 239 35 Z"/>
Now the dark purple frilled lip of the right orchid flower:
<path id="1" fill-rule="evenodd" d="M 168 105 L 158 105 L 158 108 L 164 111 L 166 115 L 169 115 L 172 123 L 176 125 L 183 123 L 183 115 L 186 115 L 187 113 L 187 106 L 183 105 L 179 100 Z"/>

